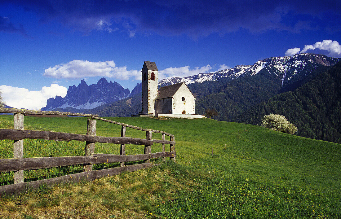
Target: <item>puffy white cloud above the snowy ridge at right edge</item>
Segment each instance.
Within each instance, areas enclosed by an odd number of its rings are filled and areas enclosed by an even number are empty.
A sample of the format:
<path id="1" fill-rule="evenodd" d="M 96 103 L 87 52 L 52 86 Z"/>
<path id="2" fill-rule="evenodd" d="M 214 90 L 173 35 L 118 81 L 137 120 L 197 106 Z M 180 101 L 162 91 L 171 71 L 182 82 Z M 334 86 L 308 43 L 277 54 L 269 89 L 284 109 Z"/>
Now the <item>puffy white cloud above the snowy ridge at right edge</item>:
<path id="1" fill-rule="evenodd" d="M 341 58 L 341 45 L 337 41 L 324 40 L 313 45 L 305 45 L 302 50 L 300 48 L 288 49 L 285 52 L 285 56 L 293 56 L 303 52 L 320 53 L 329 57 Z"/>

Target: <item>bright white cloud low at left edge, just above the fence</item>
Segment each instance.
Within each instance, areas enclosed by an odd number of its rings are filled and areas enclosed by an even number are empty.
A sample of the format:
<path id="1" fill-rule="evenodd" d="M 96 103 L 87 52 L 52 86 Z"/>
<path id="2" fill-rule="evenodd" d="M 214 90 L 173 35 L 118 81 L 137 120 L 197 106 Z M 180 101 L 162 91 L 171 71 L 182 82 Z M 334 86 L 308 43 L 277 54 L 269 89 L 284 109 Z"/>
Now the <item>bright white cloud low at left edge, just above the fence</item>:
<path id="1" fill-rule="evenodd" d="M 43 87 L 40 91 L 29 91 L 26 88 L 15 88 L 8 85 L 1 85 L 2 97 L 6 105 L 15 108 L 39 110 L 46 107 L 46 100 L 55 96 L 65 97 L 68 89 L 51 84 L 50 87 Z"/>

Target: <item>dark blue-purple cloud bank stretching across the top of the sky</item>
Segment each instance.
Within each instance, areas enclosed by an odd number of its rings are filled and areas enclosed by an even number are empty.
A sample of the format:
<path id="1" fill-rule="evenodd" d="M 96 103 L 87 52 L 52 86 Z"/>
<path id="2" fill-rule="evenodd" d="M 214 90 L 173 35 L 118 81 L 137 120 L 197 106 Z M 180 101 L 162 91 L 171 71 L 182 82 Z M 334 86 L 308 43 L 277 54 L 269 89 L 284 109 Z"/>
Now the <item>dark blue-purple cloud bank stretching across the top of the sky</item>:
<path id="1" fill-rule="evenodd" d="M 85 34 L 93 30 L 123 30 L 160 35 L 188 35 L 193 38 L 211 33 L 224 34 L 246 29 L 299 32 L 341 29 L 341 2 L 326 0 L 129 0 L 54 1 L 4 0 L 33 11 L 44 21 L 58 21 Z M 318 6 L 316 6 L 318 5 Z"/>

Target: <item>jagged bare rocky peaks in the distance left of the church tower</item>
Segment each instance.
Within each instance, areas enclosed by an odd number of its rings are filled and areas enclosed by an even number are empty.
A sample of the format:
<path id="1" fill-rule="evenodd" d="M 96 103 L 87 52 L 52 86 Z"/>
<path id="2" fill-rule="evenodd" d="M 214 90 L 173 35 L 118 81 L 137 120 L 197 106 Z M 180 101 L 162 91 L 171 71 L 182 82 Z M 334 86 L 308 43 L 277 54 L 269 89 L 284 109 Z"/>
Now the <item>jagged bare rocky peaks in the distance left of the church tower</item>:
<path id="1" fill-rule="evenodd" d="M 141 85 L 137 83 L 134 93 L 141 90 Z M 112 103 L 130 96 L 130 91 L 124 89 L 117 82 L 108 82 L 101 78 L 97 84 L 88 85 L 84 80 L 80 84 L 70 86 L 68 93 L 63 98 L 56 96 L 46 102 L 46 107 L 42 110 L 53 110 L 56 108 L 72 107 L 75 109 L 93 109 L 106 103 Z"/>

